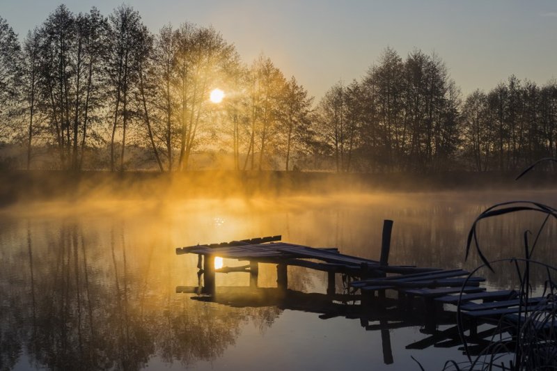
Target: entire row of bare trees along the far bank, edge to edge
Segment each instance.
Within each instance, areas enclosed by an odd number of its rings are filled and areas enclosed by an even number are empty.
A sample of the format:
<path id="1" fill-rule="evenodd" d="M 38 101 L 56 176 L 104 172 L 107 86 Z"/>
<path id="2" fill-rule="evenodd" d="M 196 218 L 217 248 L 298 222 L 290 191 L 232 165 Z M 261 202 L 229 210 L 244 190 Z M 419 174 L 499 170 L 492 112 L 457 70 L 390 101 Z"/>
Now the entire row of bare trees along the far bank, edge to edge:
<path id="1" fill-rule="evenodd" d="M 223 102 L 212 103 L 220 88 Z M 211 27 L 153 34 L 130 6 L 59 6 L 19 41 L 0 17 L 0 140 L 21 168 L 509 171 L 556 152 L 557 83 L 512 76 L 462 97 L 439 56 L 387 48 L 313 104 Z"/>

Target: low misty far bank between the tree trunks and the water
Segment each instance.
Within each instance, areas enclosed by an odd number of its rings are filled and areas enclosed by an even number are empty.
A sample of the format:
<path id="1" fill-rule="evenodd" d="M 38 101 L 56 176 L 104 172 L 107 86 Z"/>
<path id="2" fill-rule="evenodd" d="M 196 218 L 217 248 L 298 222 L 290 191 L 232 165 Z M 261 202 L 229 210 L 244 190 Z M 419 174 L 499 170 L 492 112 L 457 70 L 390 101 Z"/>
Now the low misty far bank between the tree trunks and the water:
<path id="1" fill-rule="evenodd" d="M 553 189 L 554 173 L 324 173 L 189 171 L 185 173 L 3 171 L 0 205 L 80 198 L 195 198 L 326 195 L 358 192 L 429 192 Z"/>

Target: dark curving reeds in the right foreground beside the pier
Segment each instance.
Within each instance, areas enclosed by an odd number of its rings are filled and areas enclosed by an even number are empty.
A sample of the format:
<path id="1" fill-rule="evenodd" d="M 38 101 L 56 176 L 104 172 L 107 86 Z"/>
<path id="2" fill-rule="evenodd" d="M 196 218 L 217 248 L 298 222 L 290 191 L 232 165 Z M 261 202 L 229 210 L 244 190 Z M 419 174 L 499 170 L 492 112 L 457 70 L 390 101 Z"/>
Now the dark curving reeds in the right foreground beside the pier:
<path id="1" fill-rule="evenodd" d="M 538 164 L 547 161 L 557 162 L 557 159 L 540 159 L 524 169 L 516 179 L 518 180 L 524 176 Z M 484 219 L 524 211 L 538 212 L 544 215 L 540 228 L 535 234 L 530 230 L 524 231 L 524 256 L 490 261 L 480 245 L 478 223 Z M 557 281 L 554 280 L 557 267 L 533 259 L 542 230 L 551 219 L 557 219 L 557 210 L 554 207 L 529 200 L 517 200 L 488 207 L 473 221 L 466 241 L 466 259 L 469 257 L 471 248 L 475 248 L 483 264 L 471 271 L 462 287 L 465 287 L 468 279 L 480 269 L 487 268 L 496 272 L 496 267 L 508 268 L 510 265 L 510 268 L 515 270 L 519 281 L 517 287 L 518 313 L 502 315 L 499 322 L 495 324 L 492 336 L 484 339 L 485 348 L 483 351 L 472 355 L 469 341 L 473 337 L 471 333 L 466 335 L 465 319 L 459 301 L 457 326 L 464 345 L 464 354 L 468 359 L 460 363 L 453 360 L 447 361 L 443 370 L 557 370 Z M 537 299 L 535 302 L 532 300 L 532 294 L 536 289 L 532 279 L 534 269 L 545 271 L 541 294 L 544 299 L 541 301 Z M 460 296 L 462 297 L 462 291 Z M 415 358 L 413 359 L 418 363 L 421 370 L 424 370 L 422 365 Z"/>

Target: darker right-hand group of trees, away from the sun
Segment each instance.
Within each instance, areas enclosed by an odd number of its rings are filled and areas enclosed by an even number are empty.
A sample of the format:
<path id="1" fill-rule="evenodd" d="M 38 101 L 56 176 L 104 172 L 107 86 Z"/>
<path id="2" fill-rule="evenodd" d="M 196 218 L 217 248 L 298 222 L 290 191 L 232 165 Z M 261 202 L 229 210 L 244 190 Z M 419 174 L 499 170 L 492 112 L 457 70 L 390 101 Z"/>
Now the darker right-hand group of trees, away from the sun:
<path id="1" fill-rule="evenodd" d="M 403 61 L 387 48 L 316 113 L 337 171 L 512 171 L 557 150 L 556 81 L 511 76 L 463 98 L 441 59 L 421 50 Z"/>

